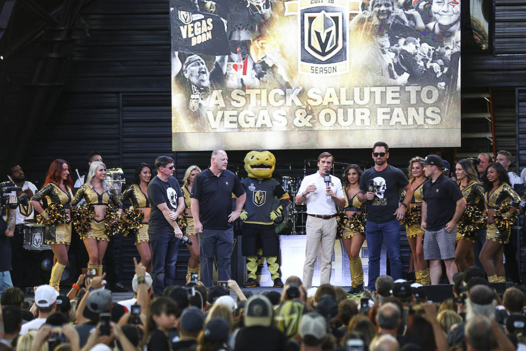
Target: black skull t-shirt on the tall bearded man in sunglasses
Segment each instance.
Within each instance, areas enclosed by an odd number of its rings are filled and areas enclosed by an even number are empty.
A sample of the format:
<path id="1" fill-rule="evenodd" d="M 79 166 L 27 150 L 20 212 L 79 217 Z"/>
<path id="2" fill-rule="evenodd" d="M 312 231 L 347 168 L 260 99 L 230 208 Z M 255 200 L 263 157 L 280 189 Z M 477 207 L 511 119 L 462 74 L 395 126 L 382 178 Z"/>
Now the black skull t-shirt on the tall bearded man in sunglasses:
<path id="1" fill-rule="evenodd" d="M 371 188 L 375 192 L 375 199 L 367 201 L 367 220 L 375 223 L 395 220 L 400 192 L 407 184 L 409 180 L 402 171 L 389 164 L 383 171 L 372 167 L 363 172 L 360 190 L 366 192 Z"/>

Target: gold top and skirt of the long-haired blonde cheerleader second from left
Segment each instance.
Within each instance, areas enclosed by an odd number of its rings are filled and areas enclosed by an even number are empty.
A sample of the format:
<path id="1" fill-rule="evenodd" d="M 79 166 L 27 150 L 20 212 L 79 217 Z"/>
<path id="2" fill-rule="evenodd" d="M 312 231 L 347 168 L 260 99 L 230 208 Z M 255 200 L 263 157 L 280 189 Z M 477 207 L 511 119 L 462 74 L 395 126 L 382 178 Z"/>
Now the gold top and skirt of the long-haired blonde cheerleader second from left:
<path id="1" fill-rule="evenodd" d="M 89 188 L 88 184 L 83 184 L 75 194 L 71 205 L 75 206 L 80 200 L 84 199 L 87 205 L 104 205 L 107 206 L 110 202 L 117 207 L 118 209 L 123 208 L 122 202 L 119 201 L 119 198 L 114 190 L 105 191 L 102 194 L 97 193 L 95 190 Z M 84 240 L 87 238 L 93 238 L 97 240 L 106 240 L 109 241 L 109 236 L 106 234 L 104 228 L 105 220 L 97 221 L 93 219 L 90 224 L 90 229 L 85 236 L 80 236 L 80 239 Z"/>

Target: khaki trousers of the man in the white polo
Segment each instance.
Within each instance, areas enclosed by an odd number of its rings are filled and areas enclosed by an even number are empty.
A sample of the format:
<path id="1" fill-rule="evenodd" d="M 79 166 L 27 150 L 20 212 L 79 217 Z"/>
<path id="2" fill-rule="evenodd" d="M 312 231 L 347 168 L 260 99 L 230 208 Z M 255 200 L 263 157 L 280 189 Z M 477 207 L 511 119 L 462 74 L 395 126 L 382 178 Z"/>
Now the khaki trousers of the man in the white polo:
<path id="1" fill-rule="evenodd" d="M 318 255 L 318 246 L 321 243 L 321 274 L 320 285 L 329 284 L 332 269 L 332 253 L 336 238 L 336 217 L 330 219 L 307 216 L 307 243 L 305 246 L 305 265 L 303 267 L 303 284 L 312 286 L 312 274 Z"/>

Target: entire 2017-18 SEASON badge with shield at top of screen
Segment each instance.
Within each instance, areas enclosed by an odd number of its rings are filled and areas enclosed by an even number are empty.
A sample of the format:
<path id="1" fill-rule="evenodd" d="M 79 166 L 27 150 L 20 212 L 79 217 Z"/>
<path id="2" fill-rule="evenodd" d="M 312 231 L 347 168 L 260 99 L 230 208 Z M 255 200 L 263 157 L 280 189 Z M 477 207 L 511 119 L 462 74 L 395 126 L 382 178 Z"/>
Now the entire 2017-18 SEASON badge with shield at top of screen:
<path id="1" fill-rule="evenodd" d="M 300 8 L 299 73 L 338 76 L 349 71 L 347 0 Z"/>

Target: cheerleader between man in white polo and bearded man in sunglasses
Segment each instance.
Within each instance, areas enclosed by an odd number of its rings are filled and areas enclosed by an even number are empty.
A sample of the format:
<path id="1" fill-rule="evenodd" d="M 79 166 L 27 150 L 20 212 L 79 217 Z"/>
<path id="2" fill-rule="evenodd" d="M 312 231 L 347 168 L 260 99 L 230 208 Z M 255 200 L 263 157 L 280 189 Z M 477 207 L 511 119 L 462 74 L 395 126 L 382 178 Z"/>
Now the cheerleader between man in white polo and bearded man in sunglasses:
<path id="1" fill-rule="evenodd" d="M 360 258 L 360 249 L 365 241 L 365 221 L 362 223 L 363 230 L 352 230 L 350 225 L 353 220 L 364 215 L 365 203 L 358 201 L 356 196 L 360 191 L 360 177 L 362 170 L 356 164 L 350 164 L 343 171 L 342 187 L 346 194 L 347 207 L 343 209 L 347 217 L 347 223 L 343 229 L 342 242 L 349 256 L 351 271 L 351 288 L 349 295 L 359 294 L 363 291 L 363 269 Z"/>

